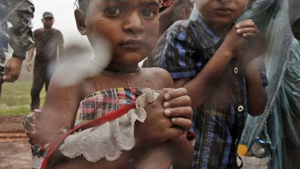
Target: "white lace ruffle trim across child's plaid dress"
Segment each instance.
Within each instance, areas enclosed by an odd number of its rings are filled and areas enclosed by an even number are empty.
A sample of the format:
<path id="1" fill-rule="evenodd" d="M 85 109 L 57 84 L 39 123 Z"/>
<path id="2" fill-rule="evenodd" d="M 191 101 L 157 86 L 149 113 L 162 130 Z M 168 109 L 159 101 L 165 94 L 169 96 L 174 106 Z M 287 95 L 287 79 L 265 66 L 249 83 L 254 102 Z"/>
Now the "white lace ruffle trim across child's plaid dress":
<path id="1" fill-rule="evenodd" d="M 69 158 L 83 155 L 91 162 L 99 161 L 103 157 L 107 161 L 118 159 L 122 150 L 131 150 L 134 147 L 135 120 L 144 122 L 147 117 L 144 106 L 155 101 L 158 95 L 158 92 L 145 88 L 143 95 L 135 102 L 136 109 L 131 109 L 112 122 L 70 134 L 60 146 L 60 152 Z"/>

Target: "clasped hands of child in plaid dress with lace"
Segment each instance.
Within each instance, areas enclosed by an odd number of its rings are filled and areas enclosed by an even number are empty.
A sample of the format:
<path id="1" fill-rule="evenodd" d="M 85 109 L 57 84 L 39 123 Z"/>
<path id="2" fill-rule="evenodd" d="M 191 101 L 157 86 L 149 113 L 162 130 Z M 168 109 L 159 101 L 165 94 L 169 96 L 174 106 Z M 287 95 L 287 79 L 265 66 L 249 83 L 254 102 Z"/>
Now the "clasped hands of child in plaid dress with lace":
<path id="1" fill-rule="evenodd" d="M 155 102 L 145 107 L 146 120 L 143 123 L 136 122 L 135 124 L 135 137 L 138 144 L 154 145 L 178 138 L 192 126 L 191 102 L 190 97 L 186 97 L 186 93 L 187 91 L 183 88 L 164 89 Z M 167 107 L 169 117 L 176 116 L 178 118 L 172 120 L 172 118 L 166 117 L 165 107 Z M 178 127 L 174 127 L 174 124 Z"/>

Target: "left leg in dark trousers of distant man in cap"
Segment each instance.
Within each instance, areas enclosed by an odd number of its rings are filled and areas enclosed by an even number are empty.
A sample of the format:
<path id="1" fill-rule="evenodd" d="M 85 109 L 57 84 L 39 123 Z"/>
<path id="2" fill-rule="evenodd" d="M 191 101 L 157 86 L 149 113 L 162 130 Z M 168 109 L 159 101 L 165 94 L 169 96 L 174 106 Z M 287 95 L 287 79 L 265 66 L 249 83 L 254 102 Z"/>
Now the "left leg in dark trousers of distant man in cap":
<path id="1" fill-rule="evenodd" d="M 44 71 L 33 70 L 33 86 L 31 88 L 31 111 L 40 108 L 40 91 L 44 86 Z"/>

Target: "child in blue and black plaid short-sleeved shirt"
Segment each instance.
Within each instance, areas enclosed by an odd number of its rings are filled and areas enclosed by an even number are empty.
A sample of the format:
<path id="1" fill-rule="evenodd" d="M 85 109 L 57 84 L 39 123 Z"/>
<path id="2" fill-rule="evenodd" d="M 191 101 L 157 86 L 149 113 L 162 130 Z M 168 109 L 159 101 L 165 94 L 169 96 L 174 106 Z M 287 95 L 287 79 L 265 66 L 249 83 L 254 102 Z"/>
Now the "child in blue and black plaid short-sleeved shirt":
<path id="1" fill-rule="evenodd" d="M 260 115 L 267 95 L 256 61 L 265 40 L 251 20 L 235 24 L 247 0 L 197 0 L 197 18 L 174 23 L 153 51 L 154 65 L 184 87 L 194 113 L 192 168 L 235 168 L 247 113 Z M 247 49 L 248 48 L 248 49 Z"/>

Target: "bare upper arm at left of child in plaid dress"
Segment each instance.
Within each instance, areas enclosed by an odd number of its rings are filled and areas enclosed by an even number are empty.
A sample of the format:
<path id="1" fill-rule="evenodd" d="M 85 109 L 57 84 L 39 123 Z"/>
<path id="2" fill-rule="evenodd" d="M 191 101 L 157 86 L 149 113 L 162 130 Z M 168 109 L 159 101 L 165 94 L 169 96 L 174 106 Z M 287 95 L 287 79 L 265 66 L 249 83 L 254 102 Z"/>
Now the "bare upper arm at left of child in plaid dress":
<path id="1" fill-rule="evenodd" d="M 63 74 L 56 70 L 49 84 L 42 115 L 38 121 L 39 133 L 42 143 L 62 134 L 60 131 L 65 127 L 72 129 L 76 118 L 76 112 L 81 101 L 81 85 L 61 86 Z"/>

